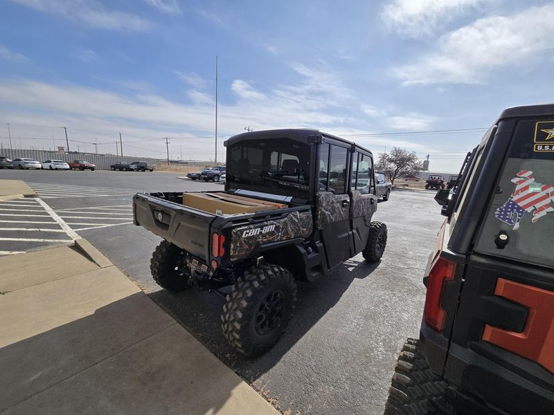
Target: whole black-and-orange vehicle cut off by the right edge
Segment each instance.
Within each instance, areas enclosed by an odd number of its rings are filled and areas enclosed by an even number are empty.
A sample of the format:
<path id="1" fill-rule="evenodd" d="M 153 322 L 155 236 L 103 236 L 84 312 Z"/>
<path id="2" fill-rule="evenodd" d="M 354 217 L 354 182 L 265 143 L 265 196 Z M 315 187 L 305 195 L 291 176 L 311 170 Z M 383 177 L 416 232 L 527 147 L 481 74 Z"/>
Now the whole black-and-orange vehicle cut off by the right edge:
<path id="1" fill-rule="evenodd" d="M 554 414 L 554 105 L 506 109 L 467 154 L 386 415 Z"/>

